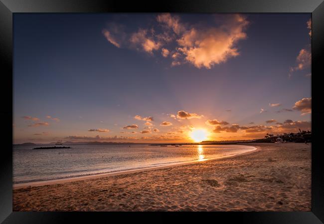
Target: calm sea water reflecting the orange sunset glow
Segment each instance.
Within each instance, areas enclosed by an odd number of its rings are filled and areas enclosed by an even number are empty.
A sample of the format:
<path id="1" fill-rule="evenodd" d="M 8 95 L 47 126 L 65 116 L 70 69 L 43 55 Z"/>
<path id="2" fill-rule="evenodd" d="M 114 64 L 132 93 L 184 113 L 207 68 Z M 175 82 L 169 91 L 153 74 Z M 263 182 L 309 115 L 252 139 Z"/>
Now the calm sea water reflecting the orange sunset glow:
<path id="1" fill-rule="evenodd" d="M 13 147 L 13 183 L 55 180 L 222 158 L 254 150 L 241 145 L 69 145 L 71 149 Z M 39 147 L 39 146 L 37 146 Z M 41 146 L 46 147 L 46 146 Z"/>

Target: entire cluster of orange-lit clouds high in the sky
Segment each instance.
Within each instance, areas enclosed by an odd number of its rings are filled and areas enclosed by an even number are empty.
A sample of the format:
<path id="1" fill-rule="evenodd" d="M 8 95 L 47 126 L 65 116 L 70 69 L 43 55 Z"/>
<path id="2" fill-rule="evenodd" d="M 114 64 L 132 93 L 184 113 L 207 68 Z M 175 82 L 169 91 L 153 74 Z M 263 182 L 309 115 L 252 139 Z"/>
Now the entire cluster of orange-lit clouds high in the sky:
<path id="1" fill-rule="evenodd" d="M 162 13 L 156 17 L 159 27 L 139 28 L 127 34 L 121 25 L 110 24 L 102 33 L 116 47 L 127 46 L 150 54 L 161 49 L 162 57 L 171 55 L 171 66 L 187 62 L 197 68 L 209 69 L 238 56 L 237 42 L 247 37 L 244 29 L 249 22 L 244 16 L 217 16 L 214 24 L 188 25 L 180 22 L 177 15 Z M 173 49 L 166 49 L 165 45 Z"/>

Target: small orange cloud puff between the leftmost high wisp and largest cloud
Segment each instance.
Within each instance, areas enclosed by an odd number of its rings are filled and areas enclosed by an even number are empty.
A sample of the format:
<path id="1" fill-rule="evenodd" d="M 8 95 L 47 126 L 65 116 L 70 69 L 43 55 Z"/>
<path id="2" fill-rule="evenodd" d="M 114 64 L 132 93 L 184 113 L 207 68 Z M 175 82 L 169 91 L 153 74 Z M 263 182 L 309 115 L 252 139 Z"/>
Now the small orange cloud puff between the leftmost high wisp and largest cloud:
<path id="1" fill-rule="evenodd" d="M 139 29 L 138 32 L 132 34 L 130 42 L 137 49 L 142 49 L 148 53 L 153 53 L 153 50 L 158 50 L 162 43 L 149 37 L 147 29 Z"/>

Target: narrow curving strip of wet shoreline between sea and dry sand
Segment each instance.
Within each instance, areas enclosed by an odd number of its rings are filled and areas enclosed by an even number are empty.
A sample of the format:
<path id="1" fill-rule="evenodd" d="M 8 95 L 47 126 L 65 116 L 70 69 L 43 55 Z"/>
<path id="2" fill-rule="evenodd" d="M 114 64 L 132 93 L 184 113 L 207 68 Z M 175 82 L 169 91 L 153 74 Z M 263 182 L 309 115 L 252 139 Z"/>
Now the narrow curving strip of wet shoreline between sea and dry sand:
<path id="1" fill-rule="evenodd" d="M 242 145 L 242 146 L 248 146 L 248 145 Z M 234 158 L 236 156 L 253 153 L 253 152 L 257 152 L 260 150 L 260 147 L 258 147 L 258 146 L 252 146 L 252 147 L 254 147 L 254 150 L 251 150 L 249 152 L 239 153 L 239 154 L 235 154 L 235 155 L 228 155 L 228 156 L 224 156 L 221 158 L 215 158 L 215 159 L 206 159 L 206 160 L 201 160 L 201 161 L 196 160 L 196 161 L 192 161 L 192 162 L 183 162 L 183 163 L 179 162 L 178 164 L 172 164 L 172 165 L 147 167 L 147 168 L 124 170 L 124 171 L 117 171 L 117 172 L 110 172 L 110 173 L 103 173 L 103 174 L 90 174 L 90 175 L 84 175 L 84 176 L 78 176 L 78 177 L 60 178 L 60 179 L 46 180 L 46 181 L 17 183 L 17 184 L 12 184 L 12 190 L 17 190 L 17 189 L 21 189 L 21 188 L 46 186 L 46 185 L 54 185 L 54 184 L 63 184 L 63 183 L 68 183 L 68 182 L 82 181 L 82 180 L 88 180 L 88 179 L 97 179 L 97 178 L 118 176 L 118 175 L 124 175 L 124 174 L 133 174 L 133 173 L 138 173 L 138 172 L 142 172 L 142 171 L 151 171 L 151 170 L 158 170 L 158 169 L 163 169 L 163 168 L 172 168 L 172 167 L 177 167 L 177 166 L 185 166 L 185 165 L 189 165 L 189 164 L 216 161 L 216 160 L 222 160 L 222 159 L 226 159 L 226 158 Z"/>

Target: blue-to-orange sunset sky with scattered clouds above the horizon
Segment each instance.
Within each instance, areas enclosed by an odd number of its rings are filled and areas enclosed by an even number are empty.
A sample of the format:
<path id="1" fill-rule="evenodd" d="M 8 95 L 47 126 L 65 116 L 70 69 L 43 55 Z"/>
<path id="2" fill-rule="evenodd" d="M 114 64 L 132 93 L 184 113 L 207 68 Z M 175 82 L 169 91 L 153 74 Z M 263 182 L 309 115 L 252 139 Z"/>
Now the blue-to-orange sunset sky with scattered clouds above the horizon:
<path id="1" fill-rule="evenodd" d="M 13 15 L 13 143 L 311 130 L 311 13 Z"/>

